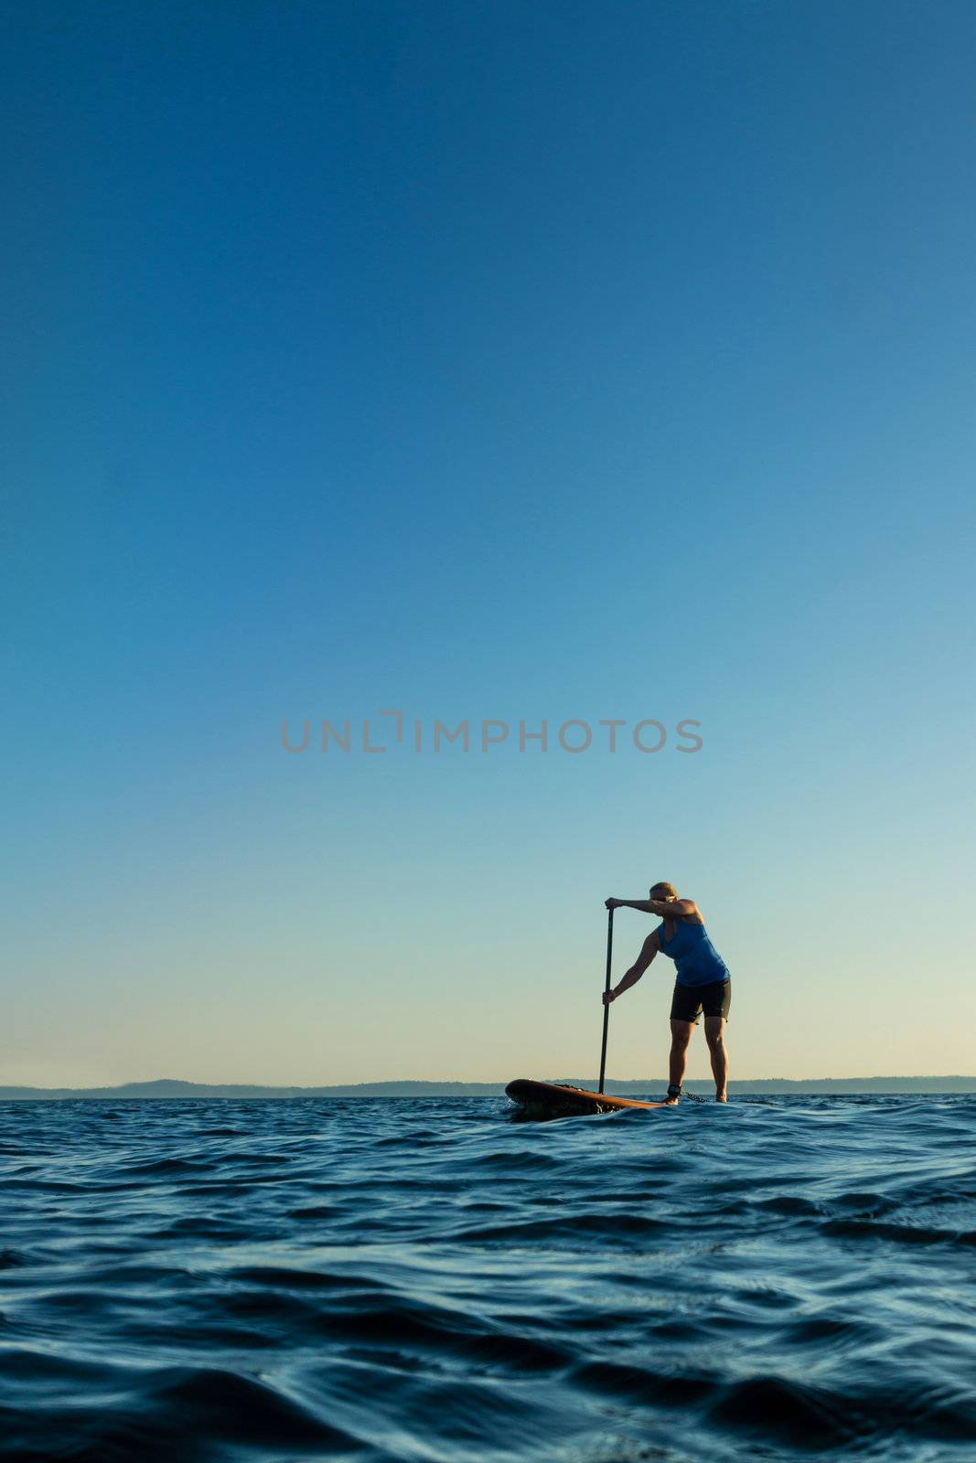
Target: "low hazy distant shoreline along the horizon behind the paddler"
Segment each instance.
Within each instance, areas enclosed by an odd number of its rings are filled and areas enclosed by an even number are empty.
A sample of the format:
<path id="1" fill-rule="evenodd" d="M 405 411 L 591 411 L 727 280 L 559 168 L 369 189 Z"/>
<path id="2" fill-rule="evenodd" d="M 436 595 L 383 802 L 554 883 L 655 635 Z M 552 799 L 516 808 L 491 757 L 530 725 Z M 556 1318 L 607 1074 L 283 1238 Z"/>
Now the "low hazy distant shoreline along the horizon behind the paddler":
<path id="1" fill-rule="evenodd" d="M 544 1081 L 571 1087 L 597 1087 L 596 1077 L 546 1077 Z M 619 1094 L 664 1091 L 666 1077 L 607 1081 L 606 1090 Z M 691 1093 L 711 1093 L 707 1080 L 685 1083 Z M 976 1077 L 757 1077 L 730 1081 L 729 1091 L 739 1096 L 863 1093 L 976 1093 Z M 177 1100 L 177 1099 L 288 1099 L 288 1097 L 500 1097 L 505 1083 L 353 1083 L 334 1087 L 265 1087 L 253 1083 L 186 1083 L 158 1080 L 123 1083 L 117 1087 L 0 1087 L 0 1102 L 72 1102 L 85 1100 Z"/>

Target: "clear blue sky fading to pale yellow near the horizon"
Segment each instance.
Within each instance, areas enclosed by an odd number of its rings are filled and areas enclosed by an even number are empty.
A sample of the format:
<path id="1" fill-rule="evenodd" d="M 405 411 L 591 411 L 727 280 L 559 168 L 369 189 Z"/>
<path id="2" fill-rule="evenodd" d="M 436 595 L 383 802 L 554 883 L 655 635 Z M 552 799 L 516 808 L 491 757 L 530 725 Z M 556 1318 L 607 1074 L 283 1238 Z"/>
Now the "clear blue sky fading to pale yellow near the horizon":
<path id="1" fill-rule="evenodd" d="M 969 0 L 4 40 L 0 1081 L 976 1071 Z"/>

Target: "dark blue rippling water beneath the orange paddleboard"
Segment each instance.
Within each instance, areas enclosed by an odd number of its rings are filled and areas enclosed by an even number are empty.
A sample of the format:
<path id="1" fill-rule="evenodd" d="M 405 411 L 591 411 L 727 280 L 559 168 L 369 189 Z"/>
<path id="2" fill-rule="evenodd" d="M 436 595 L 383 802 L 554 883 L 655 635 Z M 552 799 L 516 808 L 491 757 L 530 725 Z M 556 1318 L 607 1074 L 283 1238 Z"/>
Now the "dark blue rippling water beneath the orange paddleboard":
<path id="1" fill-rule="evenodd" d="M 0 1103 L 0 1457 L 976 1459 L 975 1097 Z"/>

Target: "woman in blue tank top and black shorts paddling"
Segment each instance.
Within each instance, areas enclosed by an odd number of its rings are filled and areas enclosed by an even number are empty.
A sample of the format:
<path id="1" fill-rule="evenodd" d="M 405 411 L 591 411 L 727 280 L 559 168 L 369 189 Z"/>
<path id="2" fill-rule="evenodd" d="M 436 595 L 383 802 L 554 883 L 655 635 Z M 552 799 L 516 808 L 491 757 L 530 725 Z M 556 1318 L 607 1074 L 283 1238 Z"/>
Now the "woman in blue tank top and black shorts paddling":
<path id="1" fill-rule="evenodd" d="M 698 1026 L 701 1012 L 705 1015 L 705 1040 L 711 1056 L 711 1071 L 716 1078 L 716 1102 L 727 1102 L 729 1055 L 724 1031 L 732 1005 L 732 976 L 724 960 L 708 939 L 705 922 L 694 900 L 679 900 L 673 884 L 656 884 L 647 900 L 607 900 L 609 910 L 642 910 L 660 914 L 663 923 L 647 936 L 641 954 L 612 990 L 603 992 L 603 1004 L 609 1005 L 617 996 L 635 986 L 654 955 L 667 955 L 675 961 L 676 980 L 672 999 L 672 1053 L 667 1102 L 680 1097 L 685 1077 L 685 1056 L 691 1034 Z"/>

